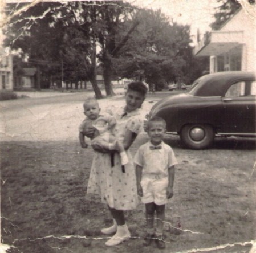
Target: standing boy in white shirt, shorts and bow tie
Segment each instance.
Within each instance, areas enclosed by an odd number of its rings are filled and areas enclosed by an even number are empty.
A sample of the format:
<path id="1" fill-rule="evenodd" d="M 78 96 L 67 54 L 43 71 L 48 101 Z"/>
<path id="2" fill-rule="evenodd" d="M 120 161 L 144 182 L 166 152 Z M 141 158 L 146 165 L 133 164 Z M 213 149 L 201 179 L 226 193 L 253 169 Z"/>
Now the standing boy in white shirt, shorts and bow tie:
<path id="1" fill-rule="evenodd" d="M 158 248 L 165 248 L 162 235 L 165 204 L 173 196 L 174 165 L 177 164 L 172 148 L 162 141 L 165 128 L 164 119 L 150 119 L 147 126 L 150 140 L 140 146 L 134 158 L 137 193 L 146 207 L 147 236 L 143 244 L 149 246 L 155 239 Z M 153 226 L 155 211 L 156 232 Z"/>

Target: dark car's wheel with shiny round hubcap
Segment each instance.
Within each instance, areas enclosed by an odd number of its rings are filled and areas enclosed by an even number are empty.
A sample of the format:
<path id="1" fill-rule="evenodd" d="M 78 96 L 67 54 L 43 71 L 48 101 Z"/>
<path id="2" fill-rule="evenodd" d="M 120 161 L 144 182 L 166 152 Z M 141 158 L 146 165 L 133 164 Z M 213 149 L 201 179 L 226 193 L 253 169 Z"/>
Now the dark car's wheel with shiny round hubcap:
<path id="1" fill-rule="evenodd" d="M 214 130 L 210 125 L 185 125 L 181 129 L 182 143 L 191 149 L 205 149 L 214 141 Z"/>

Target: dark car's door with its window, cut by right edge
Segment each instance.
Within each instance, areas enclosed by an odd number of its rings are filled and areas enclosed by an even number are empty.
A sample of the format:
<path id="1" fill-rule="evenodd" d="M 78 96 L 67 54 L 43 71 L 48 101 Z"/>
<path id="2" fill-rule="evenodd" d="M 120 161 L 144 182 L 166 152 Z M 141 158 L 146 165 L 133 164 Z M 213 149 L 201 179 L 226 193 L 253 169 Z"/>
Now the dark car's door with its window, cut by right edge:
<path id="1" fill-rule="evenodd" d="M 232 84 L 222 97 L 222 133 L 255 134 L 255 81 Z"/>

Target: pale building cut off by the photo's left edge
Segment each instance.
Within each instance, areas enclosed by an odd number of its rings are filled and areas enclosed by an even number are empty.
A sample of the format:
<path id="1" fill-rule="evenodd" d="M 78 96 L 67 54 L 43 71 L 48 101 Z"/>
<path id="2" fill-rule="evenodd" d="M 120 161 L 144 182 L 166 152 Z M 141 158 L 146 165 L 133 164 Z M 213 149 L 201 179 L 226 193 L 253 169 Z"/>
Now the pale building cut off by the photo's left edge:
<path id="1" fill-rule="evenodd" d="M 0 89 L 13 89 L 13 56 L 0 50 Z"/>

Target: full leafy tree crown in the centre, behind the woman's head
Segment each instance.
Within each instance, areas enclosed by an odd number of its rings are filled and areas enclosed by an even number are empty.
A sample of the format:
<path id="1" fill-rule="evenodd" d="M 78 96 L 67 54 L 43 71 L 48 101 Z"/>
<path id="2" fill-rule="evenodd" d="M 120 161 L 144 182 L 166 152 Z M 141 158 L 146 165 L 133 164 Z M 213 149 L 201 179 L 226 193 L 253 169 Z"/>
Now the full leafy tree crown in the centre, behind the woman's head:
<path id="1" fill-rule="evenodd" d="M 190 27 L 169 21 L 160 10 L 139 10 L 133 18 L 139 25 L 114 59 L 116 75 L 144 79 L 156 89 L 185 76 L 186 54 L 192 55 Z"/>

